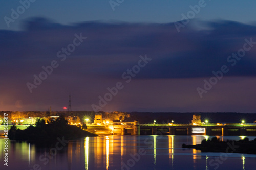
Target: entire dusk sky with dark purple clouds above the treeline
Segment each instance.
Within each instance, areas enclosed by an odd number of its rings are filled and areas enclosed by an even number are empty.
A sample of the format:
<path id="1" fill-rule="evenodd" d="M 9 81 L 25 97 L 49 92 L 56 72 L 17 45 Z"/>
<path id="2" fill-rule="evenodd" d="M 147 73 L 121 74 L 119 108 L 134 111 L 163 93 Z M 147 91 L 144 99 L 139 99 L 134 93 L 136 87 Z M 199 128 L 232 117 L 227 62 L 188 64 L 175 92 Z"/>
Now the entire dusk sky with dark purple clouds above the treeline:
<path id="1" fill-rule="evenodd" d="M 256 1 L 33 1 L 0 2 L 0 110 L 71 94 L 72 110 L 256 111 Z"/>

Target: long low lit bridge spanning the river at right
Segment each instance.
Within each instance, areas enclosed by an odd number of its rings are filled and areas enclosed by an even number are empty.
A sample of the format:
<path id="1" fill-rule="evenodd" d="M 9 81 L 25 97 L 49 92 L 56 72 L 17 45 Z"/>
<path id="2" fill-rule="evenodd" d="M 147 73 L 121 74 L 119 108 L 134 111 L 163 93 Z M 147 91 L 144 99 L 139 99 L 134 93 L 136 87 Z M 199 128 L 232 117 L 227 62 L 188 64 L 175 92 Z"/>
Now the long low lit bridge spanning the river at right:
<path id="1" fill-rule="evenodd" d="M 113 124 L 87 124 L 88 129 L 96 133 L 105 127 L 113 135 L 223 135 L 223 136 L 256 136 L 256 123 L 207 123 L 201 125 L 183 123 L 139 123 L 113 122 Z"/>

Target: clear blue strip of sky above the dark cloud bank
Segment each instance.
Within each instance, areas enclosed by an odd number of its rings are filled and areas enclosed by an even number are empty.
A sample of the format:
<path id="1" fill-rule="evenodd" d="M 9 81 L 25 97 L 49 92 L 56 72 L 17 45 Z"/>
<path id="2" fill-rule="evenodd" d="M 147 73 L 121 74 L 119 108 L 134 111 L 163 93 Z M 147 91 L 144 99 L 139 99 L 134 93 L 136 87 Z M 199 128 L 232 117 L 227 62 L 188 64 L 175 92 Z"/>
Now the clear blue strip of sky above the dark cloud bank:
<path id="1" fill-rule="evenodd" d="M 121 2 L 121 1 L 120 1 Z M 46 17 L 62 24 L 71 24 L 92 20 L 118 20 L 127 22 L 168 23 L 181 20 L 181 14 L 186 14 L 190 5 L 199 1 L 189 0 L 124 0 L 112 10 L 108 0 L 36 0 L 8 28 L 1 19 L 0 29 L 22 29 L 22 23 L 29 17 Z M 243 23 L 255 22 L 256 1 L 253 0 L 205 0 L 206 6 L 196 14 L 195 18 L 202 20 L 224 19 Z M 17 9 L 19 1 L 1 1 L 1 18 L 11 16 L 11 9 Z"/>

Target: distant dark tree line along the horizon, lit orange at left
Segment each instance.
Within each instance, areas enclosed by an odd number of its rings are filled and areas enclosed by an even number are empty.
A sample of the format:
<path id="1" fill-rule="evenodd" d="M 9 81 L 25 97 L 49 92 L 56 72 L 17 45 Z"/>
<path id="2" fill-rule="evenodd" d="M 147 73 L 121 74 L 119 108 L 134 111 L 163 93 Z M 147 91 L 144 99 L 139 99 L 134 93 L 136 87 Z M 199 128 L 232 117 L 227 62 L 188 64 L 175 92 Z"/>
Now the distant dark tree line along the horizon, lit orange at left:
<path id="1" fill-rule="evenodd" d="M 27 111 L 27 112 L 11 112 L 0 111 L 0 125 L 3 123 L 1 120 L 4 118 L 4 113 L 8 114 L 9 124 L 26 125 L 35 124 L 36 118 L 45 118 L 46 112 L 42 111 Z M 113 121 L 138 121 L 138 122 L 171 122 L 174 120 L 176 123 L 191 123 L 193 114 L 190 113 L 177 113 L 177 112 L 98 112 L 102 114 L 103 119 Z M 198 113 L 198 112 L 197 112 Z M 201 120 L 214 123 L 240 123 L 244 120 L 246 123 L 253 123 L 256 121 L 255 113 L 232 113 L 232 112 L 217 112 L 217 113 L 200 113 Z M 93 122 L 95 117 L 94 111 L 52 111 L 51 115 L 64 115 L 64 116 L 77 116 L 81 123 L 85 122 L 85 119 L 89 119 L 89 122 Z M 30 117 L 30 118 L 29 118 Z M 79 120 L 78 119 L 78 120 Z M 13 122 L 15 120 L 15 123 Z M 24 120 L 24 121 L 22 121 Z M 28 121 L 28 122 L 26 122 Z"/>

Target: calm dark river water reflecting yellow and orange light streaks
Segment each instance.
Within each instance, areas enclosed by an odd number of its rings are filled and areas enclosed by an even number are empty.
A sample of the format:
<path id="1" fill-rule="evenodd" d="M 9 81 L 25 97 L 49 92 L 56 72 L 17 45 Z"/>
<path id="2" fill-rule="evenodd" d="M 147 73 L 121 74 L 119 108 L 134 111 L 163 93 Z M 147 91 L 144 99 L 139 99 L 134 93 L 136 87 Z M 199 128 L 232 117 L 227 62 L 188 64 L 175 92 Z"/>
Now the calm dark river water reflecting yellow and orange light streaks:
<path id="1" fill-rule="evenodd" d="M 124 135 L 59 139 L 52 148 L 8 141 L 8 166 L 4 165 L 3 137 L 0 138 L 0 169 L 255 169 L 256 155 L 201 153 L 181 145 L 200 144 L 214 136 Z M 245 136 L 219 136 L 240 140 Z M 255 136 L 248 137 L 250 140 Z M 65 147 L 63 147 L 65 145 Z M 231 152 L 229 149 L 228 152 Z"/>

